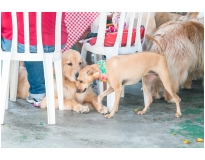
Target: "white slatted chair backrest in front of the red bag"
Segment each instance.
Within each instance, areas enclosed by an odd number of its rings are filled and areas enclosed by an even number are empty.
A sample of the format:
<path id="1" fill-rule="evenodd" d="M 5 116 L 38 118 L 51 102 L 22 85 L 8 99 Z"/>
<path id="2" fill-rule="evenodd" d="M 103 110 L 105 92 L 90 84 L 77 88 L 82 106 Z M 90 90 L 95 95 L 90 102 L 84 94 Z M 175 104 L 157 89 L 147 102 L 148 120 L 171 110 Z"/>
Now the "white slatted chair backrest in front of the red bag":
<path id="1" fill-rule="evenodd" d="M 137 15 L 137 23 L 135 23 L 136 15 Z M 117 38 L 116 38 L 115 44 L 113 46 L 113 48 L 116 48 L 115 51 L 117 51 L 118 54 L 126 54 L 126 53 L 134 53 L 136 51 L 138 51 L 138 52 L 142 51 L 142 43 L 144 43 L 144 40 L 141 43 L 141 37 L 140 37 L 140 28 L 141 28 L 142 16 L 143 16 L 143 12 L 139 12 L 139 13 L 121 12 L 120 13 L 120 21 L 119 21 L 119 25 L 118 25 Z M 98 26 L 99 26 L 98 27 L 98 36 L 97 36 L 96 43 L 94 45 L 96 47 L 104 47 L 106 20 L 107 20 L 107 12 L 101 12 L 100 16 L 98 18 Z M 149 22 L 148 20 L 149 20 L 149 13 L 148 13 L 147 21 L 146 21 L 146 25 L 145 25 L 145 32 L 146 32 L 147 25 Z M 128 36 L 127 36 L 126 46 L 122 47 L 121 41 L 122 41 L 122 35 L 123 35 L 123 29 L 124 29 L 124 22 L 126 22 L 127 26 L 128 26 Z M 135 37 L 135 44 L 131 45 L 133 28 L 136 29 L 136 37 Z M 95 26 L 95 30 L 96 30 L 96 26 Z"/>

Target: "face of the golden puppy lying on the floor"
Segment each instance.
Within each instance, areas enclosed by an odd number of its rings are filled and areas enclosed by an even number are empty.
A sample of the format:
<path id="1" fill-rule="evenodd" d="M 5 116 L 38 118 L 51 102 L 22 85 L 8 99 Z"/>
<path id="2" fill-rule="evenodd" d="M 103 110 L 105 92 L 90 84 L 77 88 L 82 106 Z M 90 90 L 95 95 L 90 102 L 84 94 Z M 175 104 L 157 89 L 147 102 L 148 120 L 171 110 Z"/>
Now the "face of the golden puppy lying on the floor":
<path id="1" fill-rule="evenodd" d="M 65 79 L 74 82 L 79 71 L 86 66 L 85 60 L 80 53 L 75 50 L 67 50 L 62 54 L 62 69 Z"/>

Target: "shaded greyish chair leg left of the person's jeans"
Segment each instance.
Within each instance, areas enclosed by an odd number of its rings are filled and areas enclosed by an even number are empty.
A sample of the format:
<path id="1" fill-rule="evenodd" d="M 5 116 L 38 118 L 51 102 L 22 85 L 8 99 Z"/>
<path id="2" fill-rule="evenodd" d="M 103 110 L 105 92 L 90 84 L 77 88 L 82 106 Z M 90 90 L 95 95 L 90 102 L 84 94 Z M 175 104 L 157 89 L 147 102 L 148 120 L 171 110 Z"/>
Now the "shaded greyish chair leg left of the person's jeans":
<path id="1" fill-rule="evenodd" d="M 19 61 L 11 61 L 10 67 L 10 101 L 16 101 L 18 88 Z"/>

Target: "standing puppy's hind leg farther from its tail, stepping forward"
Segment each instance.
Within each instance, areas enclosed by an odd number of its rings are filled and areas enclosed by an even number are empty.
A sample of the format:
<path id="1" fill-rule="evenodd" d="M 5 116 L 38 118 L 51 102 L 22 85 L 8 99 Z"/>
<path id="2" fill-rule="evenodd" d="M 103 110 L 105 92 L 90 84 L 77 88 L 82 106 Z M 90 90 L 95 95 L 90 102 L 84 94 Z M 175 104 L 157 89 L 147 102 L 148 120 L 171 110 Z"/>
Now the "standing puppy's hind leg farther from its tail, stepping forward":
<path id="1" fill-rule="evenodd" d="M 137 114 L 141 114 L 141 115 L 145 114 L 150 104 L 152 103 L 153 99 L 152 99 L 151 87 L 156 77 L 157 75 L 155 74 L 149 74 L 142 78 L 145 107 L 142 111 L 137 112 Z"/>

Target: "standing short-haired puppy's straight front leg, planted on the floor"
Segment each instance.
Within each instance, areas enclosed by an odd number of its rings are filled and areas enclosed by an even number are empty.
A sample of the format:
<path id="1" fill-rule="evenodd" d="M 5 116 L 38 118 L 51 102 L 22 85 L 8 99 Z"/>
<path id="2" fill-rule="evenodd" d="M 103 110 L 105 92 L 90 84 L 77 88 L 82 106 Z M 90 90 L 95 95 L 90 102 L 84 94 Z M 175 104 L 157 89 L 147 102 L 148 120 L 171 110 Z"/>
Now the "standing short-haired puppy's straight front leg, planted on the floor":
<path id="1" fill-rule="evenodd" d="M 117 89 L 114 89 L 114 91 L 115 91 L 115 102 L 114 102 L 113 109 L 112 109 L 110 114 L 105 115 L 106 118 L 112 118 L 114 116 L 116 110 L 118 110 L 120 96 L 121 96 L 121 93 L 122 93 L 122 85 L 118 84 L 118 86 L 119 87 Z"/>

